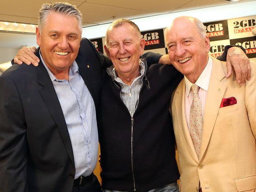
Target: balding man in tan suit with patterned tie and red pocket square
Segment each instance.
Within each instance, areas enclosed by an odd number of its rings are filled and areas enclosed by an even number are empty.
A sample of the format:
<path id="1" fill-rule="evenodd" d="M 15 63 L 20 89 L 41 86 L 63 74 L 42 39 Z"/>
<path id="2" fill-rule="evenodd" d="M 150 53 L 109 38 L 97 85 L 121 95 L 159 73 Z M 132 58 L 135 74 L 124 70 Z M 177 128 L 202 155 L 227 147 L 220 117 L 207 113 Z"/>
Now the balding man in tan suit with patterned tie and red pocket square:
<path id="1" fill-rule="evenodd" d="M 165 35 L 170 60 L 185 76 L 172 97 L 180 191 L 255 192 L 255 62 L 251 80 L 240 86 L 225 78 L 225 62 L 208 56 L 198 19 L 178 17 Z"/>

